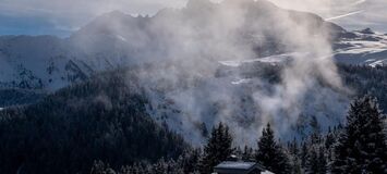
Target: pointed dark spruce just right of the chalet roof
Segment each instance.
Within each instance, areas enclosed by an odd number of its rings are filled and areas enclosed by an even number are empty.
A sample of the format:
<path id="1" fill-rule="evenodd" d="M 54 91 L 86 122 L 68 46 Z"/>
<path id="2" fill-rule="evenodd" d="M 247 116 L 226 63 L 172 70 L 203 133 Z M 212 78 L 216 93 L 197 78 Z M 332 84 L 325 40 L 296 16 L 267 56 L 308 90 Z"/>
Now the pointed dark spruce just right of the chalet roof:
<path id="1" fill-rule="evenodd" d="M 267 124 L 262 133 L 255 158 L 257 162 L 274 173 L 288 174 L 291 172 L 289 159 L 282 147 L 276 142 L 270 124 Z"/>

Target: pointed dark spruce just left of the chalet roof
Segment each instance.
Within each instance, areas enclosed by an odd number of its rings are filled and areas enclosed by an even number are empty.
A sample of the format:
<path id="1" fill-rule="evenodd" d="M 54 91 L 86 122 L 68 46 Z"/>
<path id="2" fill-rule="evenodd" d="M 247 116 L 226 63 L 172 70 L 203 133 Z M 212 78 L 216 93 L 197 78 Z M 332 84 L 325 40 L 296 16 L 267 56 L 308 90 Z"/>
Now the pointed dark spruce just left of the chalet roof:
<path id="1" fill-rule="evenodd" d="M 211 173 L 213 167 L 227 160 L 232 152 L 232 136 L 229 133 L 229 127 L 219 123 L 217 127 L 213 127 L 208 142 L 204 147 L 201 173 Z"/>

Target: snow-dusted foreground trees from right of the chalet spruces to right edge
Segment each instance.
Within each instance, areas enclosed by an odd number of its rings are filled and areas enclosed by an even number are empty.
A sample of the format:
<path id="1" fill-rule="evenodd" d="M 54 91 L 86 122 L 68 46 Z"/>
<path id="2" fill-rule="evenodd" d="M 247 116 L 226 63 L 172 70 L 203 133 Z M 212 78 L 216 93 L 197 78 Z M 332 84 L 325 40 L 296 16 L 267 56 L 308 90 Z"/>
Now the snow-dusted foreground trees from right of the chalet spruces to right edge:
<path id="1" fill-rule="evenodd" d="M 347 124 L 288 142 L 292 173 L 387 173 L 386 115 L 374 97 L 352 102 Z"/>

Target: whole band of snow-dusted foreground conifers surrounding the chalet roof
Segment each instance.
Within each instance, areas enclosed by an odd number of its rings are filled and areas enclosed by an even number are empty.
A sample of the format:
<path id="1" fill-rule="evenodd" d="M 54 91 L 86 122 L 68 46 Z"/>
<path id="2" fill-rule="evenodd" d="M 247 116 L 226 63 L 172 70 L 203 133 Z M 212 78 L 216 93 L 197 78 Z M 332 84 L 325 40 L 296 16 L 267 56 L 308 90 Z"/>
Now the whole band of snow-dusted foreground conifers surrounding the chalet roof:
<path id="1" fill-rule="evenodd" d="M 213 167 L 231 154 L 243 161 L 255 161 L 276 174 L 342 174 L 387 173 L 386 116 L 375 98 L 366 96 L 353 101 L 348 123 L 313 133 L 306 139 L 281 145 L 268 124 L 257 141 L 257 148 L 234 148 L 229 128 L 220 123 L 213 128 L 207 144 L 201 149 L 185 151 L 178 160 L 136 163 L 116 172 L 96 162 L 92 174 L 158 174 L 211 173 Z"/>

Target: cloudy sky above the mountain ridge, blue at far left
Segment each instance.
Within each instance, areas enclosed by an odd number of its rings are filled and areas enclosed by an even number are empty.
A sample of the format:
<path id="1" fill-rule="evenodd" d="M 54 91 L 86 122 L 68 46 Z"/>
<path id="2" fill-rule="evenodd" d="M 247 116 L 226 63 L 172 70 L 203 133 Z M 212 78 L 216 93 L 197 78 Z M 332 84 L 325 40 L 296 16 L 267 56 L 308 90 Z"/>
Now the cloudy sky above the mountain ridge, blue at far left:
<path id="1" fill-rule="evenodd" d="M 281 8 L 317 13 L 349 29 L 371 27 L 387 33 L 387 0 L 270 1 Z M 185 4 L 186 0 L 0 0 L 0 35 L 68 36 L 113 10 L 155 14 L 162 8 Z"/>

